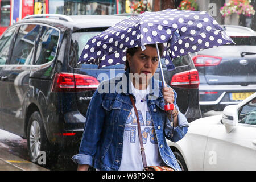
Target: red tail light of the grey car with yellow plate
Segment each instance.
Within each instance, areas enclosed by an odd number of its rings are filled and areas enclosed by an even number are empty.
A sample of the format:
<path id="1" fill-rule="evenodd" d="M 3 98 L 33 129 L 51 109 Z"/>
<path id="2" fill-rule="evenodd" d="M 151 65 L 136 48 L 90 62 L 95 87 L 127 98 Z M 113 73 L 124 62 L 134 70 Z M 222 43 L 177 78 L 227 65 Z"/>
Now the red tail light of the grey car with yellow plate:
<path id="1" fill-rule="evenodd" d="M 216 56 L 208 55 L 196 55 L 192 58 L 196 67 L 207 67 L 207 66 L 216 66 L 220 64 L 222 58 Z"/>

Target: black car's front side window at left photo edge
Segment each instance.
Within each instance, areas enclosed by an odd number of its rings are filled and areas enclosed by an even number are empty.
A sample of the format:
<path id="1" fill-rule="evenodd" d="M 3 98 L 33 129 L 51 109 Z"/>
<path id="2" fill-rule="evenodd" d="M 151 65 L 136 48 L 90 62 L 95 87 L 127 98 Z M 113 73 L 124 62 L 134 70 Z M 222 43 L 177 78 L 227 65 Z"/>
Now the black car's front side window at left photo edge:
<path id="1" fill-rule="evenodd" d="M 16 27 L 10 28 L 0 39 L 0 65 L 6 64 L 9 58 L 11 41 L 14 38 Z"/>

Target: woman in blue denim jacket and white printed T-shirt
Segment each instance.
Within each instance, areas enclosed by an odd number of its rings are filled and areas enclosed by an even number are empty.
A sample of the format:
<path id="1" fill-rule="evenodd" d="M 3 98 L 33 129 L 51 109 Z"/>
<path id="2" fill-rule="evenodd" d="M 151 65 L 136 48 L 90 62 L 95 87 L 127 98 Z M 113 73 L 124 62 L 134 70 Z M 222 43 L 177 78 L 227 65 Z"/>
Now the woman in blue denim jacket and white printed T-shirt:
<path id="1" fill-rule="evenodd" d="M 163 88 L 162 81 L 152 77 L 159 61 L 155 44 L 144 48 L 143 51 L 141 47 L 127 50 L 126 72 L 122 78 L 114 79 L 114 93 L 99 92 L 102 86 L 110 88 L 106 82 L 94 93 L 86 114 L 79 154 L 72 157 L 79 164 L 78 170 L 88 170 L 89 166 L 98 170 L 143 169 L 130 94 L 138 110 L 147 166 L 164 165 L 180 170 L 166 138 L 173 142 L 183 138 L 188 122 L 179 112 L 176 92 L 169 86 Z M 123 84 L 118 87 L 120 80 Z M 173 123 L 169 119 L 171 111 L 164 110 L 167 103 L 175 105 Z"/>

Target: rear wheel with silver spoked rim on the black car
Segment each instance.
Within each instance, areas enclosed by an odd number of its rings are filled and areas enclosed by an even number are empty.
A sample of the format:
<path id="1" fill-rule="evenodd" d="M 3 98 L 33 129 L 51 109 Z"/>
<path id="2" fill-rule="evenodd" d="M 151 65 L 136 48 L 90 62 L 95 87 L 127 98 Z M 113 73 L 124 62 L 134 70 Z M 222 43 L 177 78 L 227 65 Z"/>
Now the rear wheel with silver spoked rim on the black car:
<path id="1" fill-rule="evenodd" d="M 43 167 L 51 167 L 57 162 L 58 152 L 47 139 L 43 120 L 38 111 L 32 113 L 28 121 L 27 148 L 33 163 Z"/>

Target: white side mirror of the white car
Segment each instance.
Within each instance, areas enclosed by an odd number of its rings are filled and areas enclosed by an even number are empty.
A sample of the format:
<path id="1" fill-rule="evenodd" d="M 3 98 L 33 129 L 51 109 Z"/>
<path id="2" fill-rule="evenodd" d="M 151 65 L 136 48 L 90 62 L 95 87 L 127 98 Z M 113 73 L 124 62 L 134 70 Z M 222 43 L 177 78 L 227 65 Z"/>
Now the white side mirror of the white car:
<path id="1" fill-rule="evenodd" d="M 237 105 L 226 106 L 222 114 L 222 122 L 225 125 L 226 132 L 230 133 L 237 126 Z"/>

